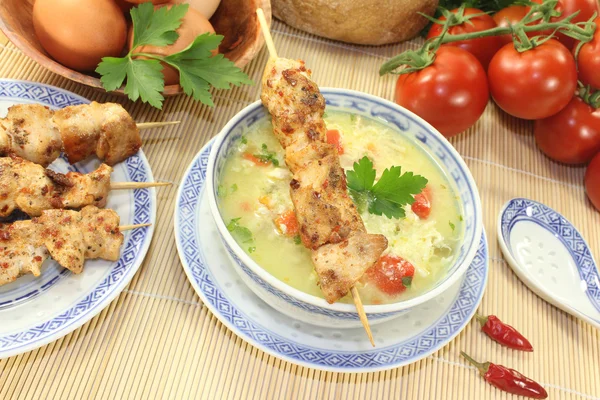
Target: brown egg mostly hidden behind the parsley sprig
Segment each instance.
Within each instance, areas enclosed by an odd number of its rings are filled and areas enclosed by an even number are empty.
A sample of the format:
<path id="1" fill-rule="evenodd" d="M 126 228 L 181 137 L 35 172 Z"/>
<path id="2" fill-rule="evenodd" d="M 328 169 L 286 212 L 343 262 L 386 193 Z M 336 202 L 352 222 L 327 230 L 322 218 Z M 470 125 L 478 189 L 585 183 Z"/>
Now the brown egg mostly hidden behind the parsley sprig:
<path id="1" fill-rule="evenodd" d="M 171 5 L 166 5 L 164 7 L 170 7 Z M 158 8 L 158 7 L 155 7 Z M 168 56 L 173 53 L 177 53 L 185 49 L 190 43 L 196 39 L 197 36 L 210 32 L 215 33 L 214 28 L 208 22 L 208 20 L 200 14 L 198 11 L 193 8 L 189 8 L 188 12 L 183 17 L 183 21 L 179 29 L 177 29 L 177 33 L 179 33 L 179 38 L 175 43 L 170 46 L 157 47 L 157 46 L 142 46 L 135 49 L 135 52 L 141 53 L 150 53 L 157 54 L 160 56 Z M 129 28 L 128 35 L 128 43 L 131 48 L 133 41 L 133 28 Z M 163 63 L 163 75 L 165 76 L 165 85 L 175 85 L 179 83 L 179 71 L 175 68 L 166 65 Z"/>

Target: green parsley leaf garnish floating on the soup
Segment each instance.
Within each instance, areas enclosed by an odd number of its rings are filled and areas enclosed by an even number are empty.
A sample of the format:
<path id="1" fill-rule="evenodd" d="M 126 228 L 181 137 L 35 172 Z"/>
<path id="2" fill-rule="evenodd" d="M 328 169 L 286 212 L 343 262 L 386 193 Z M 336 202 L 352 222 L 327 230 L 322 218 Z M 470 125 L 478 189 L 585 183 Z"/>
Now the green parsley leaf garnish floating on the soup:
<path id="1" fill-rule="evenodd" d="M 350 195 L 360 209 L 366 206 L 369 213 L 388 218 L 404 218 L 405 205 L 415 201 L 427 179 L 412 172 L 402 174 L 400 167 L 385 169 L 375 183 L 376 171 L 367 156 L 354 163 L 353 170 L 346 171 Z"/>

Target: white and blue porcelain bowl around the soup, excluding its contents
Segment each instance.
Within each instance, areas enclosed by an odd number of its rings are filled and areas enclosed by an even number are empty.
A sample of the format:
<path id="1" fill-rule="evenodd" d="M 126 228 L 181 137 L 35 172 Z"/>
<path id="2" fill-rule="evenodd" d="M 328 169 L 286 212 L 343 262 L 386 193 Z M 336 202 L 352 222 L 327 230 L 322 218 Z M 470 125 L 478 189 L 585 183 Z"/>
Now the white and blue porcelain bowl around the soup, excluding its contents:
<path id="1" fill-rule="evenodd" d="M 464 237 L 458 247 L 459 254 L 446 276 L 417 297 L 393 304 L 366 305 L 364 308 L 369 322 L 375 325 L 402 315 L 411 308 L 441 295 L 461 279 L 473 261 L 481 240 L 483 221 L 479 193 L 468 167 L 454 147 L 420 117 L 390 101 L 357 91 L 322 88 L 321 93 L 327 102 L 327 111 L 347 112 L 375 119 L 398 135 L 416 142 L 446 172 L 462 203 Z M 278 280 L 246 254 L 227 230 L 218 206 L 219 177 L 225 167 L 227 155 L 235 148 L 238 139 L 265 118 L 270 116 L 260 101 L 250 104 L 229 121 L 212 146 L 206 188 L 221 241 L 245 284 L 276 310 L 309 324 L 338 328 L 360 327 L 361 322 L 353 304 L 329 304 L 322 298 L 304 293 Z"/>

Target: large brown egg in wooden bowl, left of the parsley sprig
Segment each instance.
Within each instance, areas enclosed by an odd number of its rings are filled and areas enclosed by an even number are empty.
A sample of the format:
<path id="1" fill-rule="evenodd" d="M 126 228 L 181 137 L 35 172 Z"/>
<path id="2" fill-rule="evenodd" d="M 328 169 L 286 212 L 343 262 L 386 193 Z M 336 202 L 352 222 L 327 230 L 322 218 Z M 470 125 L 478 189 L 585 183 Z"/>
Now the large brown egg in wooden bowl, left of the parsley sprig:
<path id="1" fill-rule="evenodd" d="M 113 0 L 36 0 L 33 27 L 56 61 L 79 71 L 118 57 L 127 39 L 125 17 Z"/>

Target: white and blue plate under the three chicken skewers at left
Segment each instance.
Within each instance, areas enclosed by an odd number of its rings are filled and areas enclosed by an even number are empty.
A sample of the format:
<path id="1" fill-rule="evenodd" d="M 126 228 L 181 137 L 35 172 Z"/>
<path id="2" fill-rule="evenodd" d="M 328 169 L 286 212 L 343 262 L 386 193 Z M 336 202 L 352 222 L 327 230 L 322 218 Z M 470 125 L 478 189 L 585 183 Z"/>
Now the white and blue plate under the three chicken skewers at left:
<path id="1" fill-rule="evenodd" d="M 89 103 L 89 100 L 48 85 L 0 79 L 0 116 L 17 103 L 40 103 L 58 109 Z M 59 159 L 50 168 L 58 172 L 88 173 L 99 164 L 98 160 L 90 160 L 71 166 Z M 154 180 L 141 150 L 115 165 L 111 178 L 114 182 Z M 119 214 L 122 225 L 152 223 L 156 219 L 156 194 L 154 189 L 114 191 L 106 207 Z M 74 275 L 49 260 L 41 276 L 27 275 L 0 286 L 0 358 L 57 340 L 102 311 L 142 264 L 153 231 L 150 226 L 124 232 L 121 258 L 116 262 L 89 260 L 84 271 Z"/>

